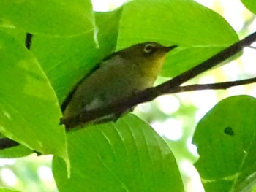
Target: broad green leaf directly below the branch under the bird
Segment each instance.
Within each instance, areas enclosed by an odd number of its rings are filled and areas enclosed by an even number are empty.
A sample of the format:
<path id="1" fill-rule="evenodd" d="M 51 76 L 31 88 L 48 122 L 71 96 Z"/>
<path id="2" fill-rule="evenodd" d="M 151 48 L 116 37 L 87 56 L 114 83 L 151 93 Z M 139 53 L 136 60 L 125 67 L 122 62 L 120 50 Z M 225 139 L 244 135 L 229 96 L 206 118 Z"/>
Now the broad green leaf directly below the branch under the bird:
<path id="1" fill-rule="evenodd" d="M 71 177 L 53 158 L 59 191 L 184 191 L 173 153 L 148 124 L 127 115 L 67 135 Z"/>

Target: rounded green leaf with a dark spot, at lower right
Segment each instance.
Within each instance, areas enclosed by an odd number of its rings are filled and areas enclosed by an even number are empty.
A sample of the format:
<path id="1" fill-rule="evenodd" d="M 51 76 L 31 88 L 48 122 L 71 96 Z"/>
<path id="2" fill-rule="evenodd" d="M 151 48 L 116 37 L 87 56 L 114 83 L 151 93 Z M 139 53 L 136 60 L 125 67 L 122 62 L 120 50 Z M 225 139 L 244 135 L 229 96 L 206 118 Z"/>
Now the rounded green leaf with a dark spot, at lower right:
<path id="1" fill-rule="evenodd" d="M 256 177 L 256 99 L 233 96 L 220 101 L 200 120 L 193 142 L 198 147 L 206 191 L 250 191 Z"/>

